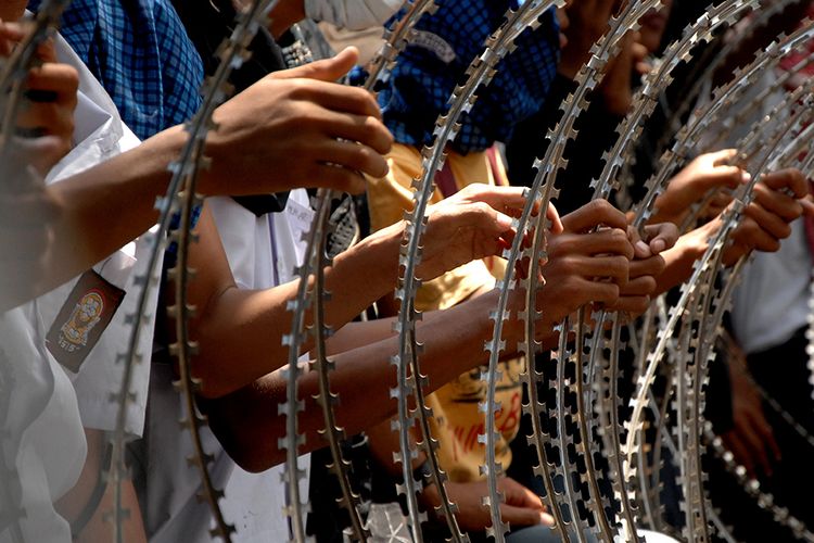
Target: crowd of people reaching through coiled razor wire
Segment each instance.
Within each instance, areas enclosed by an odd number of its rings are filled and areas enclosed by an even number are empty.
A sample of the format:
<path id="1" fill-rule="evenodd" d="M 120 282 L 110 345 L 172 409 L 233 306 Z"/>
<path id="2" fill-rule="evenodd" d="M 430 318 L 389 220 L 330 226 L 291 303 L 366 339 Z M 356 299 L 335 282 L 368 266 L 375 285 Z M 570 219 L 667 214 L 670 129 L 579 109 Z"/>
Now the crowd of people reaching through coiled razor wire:
<path id="1" fill-rule="evenodd" d="M 0 0 L 3 59 L 26 40 L 28 20 L 41 3 Z M 174 388 L 177 247 L 166 244 L 164 265 L 156 269 L 149 269 L 149 255 L 156 198 L 165 193 L 171 165 L 187 143 L 185 123 L 201 108 L 200 91 L 218 66 L 219 45 L 245 3 L 74 0 L 62 13 L 59 33 L 37 48 L 33 67 L 20 76 L 22 104 L 3 123 L 12 131 L 4 130 L 10 139 L 0 143 L 2 543 L 106 541 L 117 530 L 111 521 L 114 507 L 128 510 L 122 534 L 127 542 L 211 539 L 215 519 L 200 500 L 203 483 L 188 462 L 194 447 L 179 429 L 178 420 L 188 415 Z M 365 77 L 358 51 L 378 49 L 382 27 L 404 13 L 403 3 L 280 0 L 268 28 L 252 41 L 251 58 L 230 76 L 234 96 L 213 115 L 206 167 L 198 173 L 198 190 L 206 198 L 196 210 L 195 242 L 188 254 L 194 274 L 187 302 L 195 308 L 188 326 L 196 344 L 191 359 L 200 382 L 196 408 L 208 421 L 202 441 L 213 482 L 224 490 L 224 516 L 236 528 L 232 541 L 290 538 L 281 483 L 287 419 L 279 405 L 287 393 L 296 269 L 315 216 L 314 189 L 320 188 L 353 195 L 333 214 L 353 235 L 331 240 L 332 263 L 325 269 L 331 293 L 325 323 L 333 330 L 327 342 L 334 365 L 330 381 L 340 397 L 334 412 L 347 437 L 343 449 L 353 464 L 352 483 L 361 493 L 373 538 L 382 538 L 376 541 L 411 541 L 405 528 L 377 533 L 377 518 L 405 515 L 396 492 L 402 466 L 394 454 L 400 445 L 393 431 L 399 420 L 393 419 L 391 364 L 398 353 L 394 293 L 409 228 L 405 216 L 415 203 L 414 179 L 422 171 L 422 148 L 433 143 L 436 119 L 507 10 L 523 2 L 436 0 L 376 93 L 338 83 Z M 495 286 L 506 273 L 501 254 L 519 233 L 514 219 L 526 203 L 524 187 L 536 174 L 534 159 L 550 143 L 547 134 L 559 121 L 560 104 L 622 3 L 575 0 L 545 12 L 461 117 L 434 177 L 416 269 L 421 286 L 415 308 L 422 312 L 416 336 L 423 344 L 430 426 L 449 477 L 446 492 L 471 541 L 485 541 L 492 525 L 484 505 L 486 451 L 480 435 L 486 414 L 480 404 L 486 397 L 484 343 L 493 332 Z M 592 201 L 590 181 L 602 171 L 605 152 L 641 78 L 658 64 L 663 45 L 704 10 L 696 1 L 672 3 L 649 11 L 638 30 L 625 35 L 601 84 L 590 91 L 578 137 L 565 147 L 559 195 L 535 212 L 549 225 L 540 269 L 545 280 L 536 293 L 543 311 L 535 323 L 546 350 L 557 349 L 558 325 L 581 307 L 619 311 L 635 320 L 658 296 L 670 298 L 724 227 L 726 211 L 739 203 L 733 202 L 734 190 L 750 180 L 732 149 L 738 141 L 733 136 L 673 177 L 641 229 L 631 225 L 621 197 Z M 772 3 L 766 0 L 764 8 Z M 715 72 L 715 83 L 726 83 L 755 51 L 793 30 L 807 10 L 809 2 L 785 5 L 763 31 L 738 38 L 740 47 Z M 289 54 L 308 47 L 292 31 L 303 20 L 320 23 L 334 55 L 303 63 L 302 55 Z M 317 26 L 309 28 L 320 36 Z M 746 31 L 728 28 L 710 51 Z M 339 42 L 358 49 L 340 50 Z M 780 66 L 790 70 L 797 62 Z M 682 72 L 686 79 L 679 74 L 671 91 L 691 86 L 694 67 L 688 63 Z M 771 87 L 767 77 L 762 88 Z M 793 88 L 789 84 L 780 91 Z M 635 163 L 626 165 L 629 198 L 640 198 L 663 141 L 675 136 L 673 113 L 690 98 L 703 103 L 709 90 L 659 97 L 657 114 L 637 138 Z M 749 119 L 738 121 L 749 128 Z M 752 252 L 759 256 L 742 274 L 728 331 L 718 343 L 707 417 L 749 475 L 814 527 L 805 505 L 805 490 L 814 482 L 806 462 L 814 442 L 806 439 L 814 432 L 805 338 L 812 266 L 806 219 L 814 217 L 807 174 L 762 175 L 724 250 L 724 266 Z M 698 217 L 688 224 L 696 206 Z M 128 471 L 119 494 L 107 477 L 111 438 L 118 425 L 122 354 L 145 275 L 157 287 L 149 291 L 139 318 L 135 351 L 142 363 L 133 366 L 127 396 Z M 525 341 L 525 302 L 521 289 L 512 296 L 497 388 L 503 407 L 495 420 L 495 454 L 506 471 L 498 482 L 499 510 L 511 528 L 509 542 L 559 541 L 532 472 L 535 459 L 522 439 L 527 419 L 521 411 L 519 345 Z M 306 319 L 313 318 L 307 312 Z M 314 346 L 308 336 L 295 353 L 304 366 Z M 546 356 L 539 356 L 542 371 Z M 320 542 L 342 541 L 348 519 L 327 468 L 331 456 L 318 387 L 315 371 L 300 377 L 301 494 L 310 504 L 308 533 Z M 423 479 L 428 458 L 421 453 L 410 462 L 414 476 Z M 673 477 L 667 468 L 665 477 Z M 707 468 L 712 501 L 739 540 L 791 538 L 732 488 L 721 466 Z M 442 497 L 428 483 L 419 500 L 432 512 Z M 679 534 L 678 500 L 669 489 L 663 500 L 664 531 Z M 432 513 L 420 529 L 424 541 L 449 536 L 446 522 Z M 666 540 L 641 533 L 648 541 Z"/>

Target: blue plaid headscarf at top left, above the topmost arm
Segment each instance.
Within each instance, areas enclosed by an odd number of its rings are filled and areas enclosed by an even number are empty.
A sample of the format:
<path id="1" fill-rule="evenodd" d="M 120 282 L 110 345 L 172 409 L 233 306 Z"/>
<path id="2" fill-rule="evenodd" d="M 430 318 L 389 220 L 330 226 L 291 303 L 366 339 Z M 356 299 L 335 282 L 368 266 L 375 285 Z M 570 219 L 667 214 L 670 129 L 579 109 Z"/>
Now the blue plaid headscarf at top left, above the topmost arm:
<path id="1" fill-rule="evenodd" d="M 203 64 L 169 0 L 73 0 L 61 34 L 139 138 L 198 111 Z"/>

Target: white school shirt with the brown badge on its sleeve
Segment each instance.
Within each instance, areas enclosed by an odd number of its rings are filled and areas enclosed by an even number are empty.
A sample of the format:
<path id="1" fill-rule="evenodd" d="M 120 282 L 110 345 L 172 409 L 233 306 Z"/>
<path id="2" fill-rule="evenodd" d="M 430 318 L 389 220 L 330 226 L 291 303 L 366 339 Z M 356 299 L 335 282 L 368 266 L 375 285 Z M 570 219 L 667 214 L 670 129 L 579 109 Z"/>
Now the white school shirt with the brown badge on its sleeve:
<path id="1" fill-rule="evenodd" d="M 78 70 L 79 94 L 75 115 L 75 147 L 49 173 L 46 179 L 49 184 L 59 182 L 140 143 L 138 137 L 123 123 L 107 92 L 61 38 L 58 42 L 58 58 L 61 62 Z M 105 210 L 99 210 L 99 213 L 105 213 Z M 115 430 L 118 409 L 111 401 L 111 395 L 120 392 L 124 367 L 124 364 L 117 362 L 116 357 L 125 353 L 133 328 L 125 320 L 127 315 L 136 312 L 141 287 L 136 286 L 133 281 L 136 276 L 144 275 L 147 272 L 148 249 L 145 242 L 136 240 L 93 266 L 107 281 L 125 290 L 126 295 L 99 342 L 79 368 L 79 372 L 74 374 L 65 369 L 76 389 L 79 412 L 86 428 Z M 155 273 L 157 274 L 158 270 Z M 37 305 L 46 329 L 53 324 L 77 280 L 78 277 L 38 300 Z M 141 435 L 144 426 L 150 376 L 150 365 L 147 361 L 150 359 L 152 351 L 156 304 L 157 289 L 152 289 L 144 312 L 148 318 L 141 329 L 138 344 L 141 359 L 145 362 L 133 366 L 130 389 L 133 401 L 126 418 L 125 430 L 133 435 Z"/>

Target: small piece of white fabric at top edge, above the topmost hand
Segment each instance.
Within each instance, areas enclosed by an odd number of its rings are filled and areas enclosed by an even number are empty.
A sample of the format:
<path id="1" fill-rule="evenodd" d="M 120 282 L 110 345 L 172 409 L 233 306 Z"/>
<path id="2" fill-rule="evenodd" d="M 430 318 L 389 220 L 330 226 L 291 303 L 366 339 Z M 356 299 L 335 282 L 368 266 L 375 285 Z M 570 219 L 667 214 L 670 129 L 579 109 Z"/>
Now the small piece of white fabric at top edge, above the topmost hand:
<path id="1" fill-rule="evenodd" d="M 404 4 L 404 0 L 305 0 L 305 15 L 340 28 L 361 30 L 381 26 Z"/>

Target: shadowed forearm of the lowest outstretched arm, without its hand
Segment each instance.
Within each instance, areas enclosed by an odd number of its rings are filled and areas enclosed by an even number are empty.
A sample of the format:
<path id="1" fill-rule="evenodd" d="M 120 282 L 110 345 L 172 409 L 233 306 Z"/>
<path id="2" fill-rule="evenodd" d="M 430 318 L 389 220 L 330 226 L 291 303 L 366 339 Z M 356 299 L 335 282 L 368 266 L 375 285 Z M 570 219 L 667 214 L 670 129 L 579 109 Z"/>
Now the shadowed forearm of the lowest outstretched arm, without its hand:
<path id="1" fill-rule="evenodd" d="M 492 336 L 488 312 L 494 302 L 492 294 L 480 296 L 419 323 L 418 340 L 425 345 L 420 361 L 429 379 L 427 393 L 487 362 L 483 344 Z M 507 341 L 508 346 L 513 344 Z M 390 359 L 397 352 L 397 338 L 390 338 L 333 357 L 336 370 L 331 372 L 331 390 L 340 395 L 335 412 L 347 434 L 395 413 L 390 389 L 396 386 L 396 375 Z M 313 399 L 318 393 L 317 377 L 310 371 L 300 380 L 298 395 L 305 402 L 300 430 L 306 435 L 302 453 L 325 445 L 318 435 L 323 426 L 321 409 Z M 278 449 L 277 439 L 285 433 L 285 417 L 276 414 L 284 396 L 285 384 L 277 372 L 234 394 L 206 402 L 213 429 L 245 468 L 262 470 L 283 460 L 284 451 Z"/>

